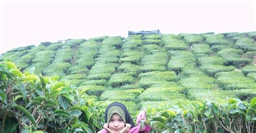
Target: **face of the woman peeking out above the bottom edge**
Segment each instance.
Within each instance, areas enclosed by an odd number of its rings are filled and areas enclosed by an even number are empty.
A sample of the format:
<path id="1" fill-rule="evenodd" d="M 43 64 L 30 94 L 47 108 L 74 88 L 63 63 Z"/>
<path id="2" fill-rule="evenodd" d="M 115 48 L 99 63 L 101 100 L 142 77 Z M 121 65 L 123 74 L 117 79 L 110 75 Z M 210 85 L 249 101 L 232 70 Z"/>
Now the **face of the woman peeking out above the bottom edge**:
<path id="1" fill-rule="evenodd" d="M 123 128 L 124 121 L 122 117 L 120 117 L 118 114 L 113 114 L 109 122 L 109 129 L 116 133 L 122 130 Z"/>

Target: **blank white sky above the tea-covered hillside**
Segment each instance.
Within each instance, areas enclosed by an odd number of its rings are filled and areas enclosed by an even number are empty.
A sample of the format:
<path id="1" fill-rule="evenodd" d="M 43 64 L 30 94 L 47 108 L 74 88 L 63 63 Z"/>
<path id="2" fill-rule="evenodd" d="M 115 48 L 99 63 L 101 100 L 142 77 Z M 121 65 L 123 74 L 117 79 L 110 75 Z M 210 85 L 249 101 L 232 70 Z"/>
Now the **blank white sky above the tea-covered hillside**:
<path id="1" fill-rule="evenodd" d="M 130 31 L 256 31 L 253 0 L 1 1 L 0 54 L 16 47 Z"/>

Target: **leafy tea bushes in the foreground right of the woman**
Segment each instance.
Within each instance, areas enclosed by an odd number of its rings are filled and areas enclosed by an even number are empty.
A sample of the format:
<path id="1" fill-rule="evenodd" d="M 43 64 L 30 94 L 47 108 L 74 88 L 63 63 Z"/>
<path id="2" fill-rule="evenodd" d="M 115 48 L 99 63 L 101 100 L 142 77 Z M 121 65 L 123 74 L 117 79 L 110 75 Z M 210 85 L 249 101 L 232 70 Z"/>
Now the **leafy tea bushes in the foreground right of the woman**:
<path id="1" fill-rule="evenodd" d="M 156 132 L 254 132 L 255 101 L 231 98 L 226 105 L 206 101 L 173 106 L 162 109 L 151 124 Z"/>

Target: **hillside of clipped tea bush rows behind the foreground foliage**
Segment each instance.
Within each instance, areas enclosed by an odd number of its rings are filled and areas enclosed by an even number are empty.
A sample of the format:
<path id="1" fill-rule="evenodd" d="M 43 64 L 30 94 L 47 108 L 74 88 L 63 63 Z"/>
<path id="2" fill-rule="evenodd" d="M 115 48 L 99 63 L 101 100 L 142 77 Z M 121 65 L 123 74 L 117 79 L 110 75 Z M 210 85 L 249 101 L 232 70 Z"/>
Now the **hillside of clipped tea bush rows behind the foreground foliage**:
<path id="1" fill-rule="evenodd" d="M 129 109 L 256 96 L 256 32 L 102 36 L 9 50 L 18 68 L 58 75 Z"/>

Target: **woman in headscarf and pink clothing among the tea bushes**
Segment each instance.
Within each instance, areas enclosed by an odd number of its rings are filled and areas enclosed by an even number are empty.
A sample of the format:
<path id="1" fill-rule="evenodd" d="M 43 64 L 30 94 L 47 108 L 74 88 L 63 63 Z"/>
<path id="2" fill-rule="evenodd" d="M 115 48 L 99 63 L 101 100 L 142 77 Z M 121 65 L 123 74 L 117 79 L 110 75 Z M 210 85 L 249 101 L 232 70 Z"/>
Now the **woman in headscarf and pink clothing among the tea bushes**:
<path id="1" fill-rule="evenodd" d="M 126 107 L 120 102 L 113 102 L 105 111 L 104 129 L 98 133 L 147 133 L 151 130 L 150 125 L 145 124 L 145 111 L 137 116 L 137 125 L 133 123 L 132 117 Z"/>

